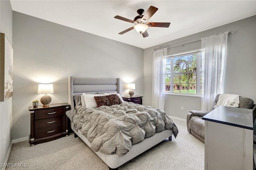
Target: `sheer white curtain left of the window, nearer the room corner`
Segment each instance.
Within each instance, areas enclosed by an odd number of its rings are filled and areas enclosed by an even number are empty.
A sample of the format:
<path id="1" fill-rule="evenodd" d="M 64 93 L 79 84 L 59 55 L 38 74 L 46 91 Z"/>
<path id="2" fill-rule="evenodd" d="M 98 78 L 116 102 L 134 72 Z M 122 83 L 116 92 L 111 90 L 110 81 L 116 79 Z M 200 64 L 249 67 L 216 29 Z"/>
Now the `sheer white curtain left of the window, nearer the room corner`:
<path id="1" fill-rule="evenodd" d="M 152 107 L 164 109 L 165 102 L 165 81 L 163 57 L 167 55 L 167 48 L 153 52 L 153 77 L 152 77 Z"/>

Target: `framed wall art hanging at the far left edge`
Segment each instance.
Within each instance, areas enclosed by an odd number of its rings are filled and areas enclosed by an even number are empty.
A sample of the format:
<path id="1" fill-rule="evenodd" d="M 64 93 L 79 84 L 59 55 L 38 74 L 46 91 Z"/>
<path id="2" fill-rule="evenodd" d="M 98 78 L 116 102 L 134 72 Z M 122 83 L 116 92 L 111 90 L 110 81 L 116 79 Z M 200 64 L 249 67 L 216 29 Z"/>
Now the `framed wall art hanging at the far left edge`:
<path id="1" fill-rule="evenodd" d="M 0 33 L 0 102 L 12 97 L 13 49 L 4 33 Z"/>

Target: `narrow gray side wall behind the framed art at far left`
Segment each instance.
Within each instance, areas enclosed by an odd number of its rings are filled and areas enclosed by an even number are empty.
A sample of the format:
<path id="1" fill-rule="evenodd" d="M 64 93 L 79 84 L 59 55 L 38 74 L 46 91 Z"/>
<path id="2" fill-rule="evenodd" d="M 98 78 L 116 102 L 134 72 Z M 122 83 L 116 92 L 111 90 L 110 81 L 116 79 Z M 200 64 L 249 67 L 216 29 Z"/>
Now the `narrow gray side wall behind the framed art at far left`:
<path id="1" fill-rule="evenodd" d="M 12 7 L 9 0 L 0 1 L 0 32 L 12 45 Z M 11 144 L 12 97 L 0 102 L 0 163 L 4 163 Z M 6 143 L 4 145 L 4 136 Z"/>

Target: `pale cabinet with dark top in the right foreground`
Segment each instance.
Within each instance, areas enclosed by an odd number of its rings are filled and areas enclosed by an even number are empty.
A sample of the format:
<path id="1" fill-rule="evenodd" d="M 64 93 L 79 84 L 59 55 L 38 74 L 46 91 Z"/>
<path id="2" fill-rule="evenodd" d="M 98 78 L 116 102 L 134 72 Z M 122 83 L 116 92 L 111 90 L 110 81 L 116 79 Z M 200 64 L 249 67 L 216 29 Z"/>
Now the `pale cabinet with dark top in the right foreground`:
<path id="1" fill-rule="evenodd" d="M 252 110 L 219 106 L 205 120 L 205 170 L 252 170 Z"/>

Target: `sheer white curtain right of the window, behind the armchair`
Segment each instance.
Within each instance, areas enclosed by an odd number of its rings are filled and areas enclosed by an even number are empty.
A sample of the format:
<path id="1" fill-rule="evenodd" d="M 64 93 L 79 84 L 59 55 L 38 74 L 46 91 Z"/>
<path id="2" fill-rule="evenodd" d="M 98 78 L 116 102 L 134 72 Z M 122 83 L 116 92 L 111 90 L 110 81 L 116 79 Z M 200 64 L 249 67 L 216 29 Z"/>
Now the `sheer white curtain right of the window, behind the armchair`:
<path id="1" fill-rule="evenodd" d="M 223 93 L 228 31 L 202 38 L 202 107 L 210 111 L 217 94 Z"/>

